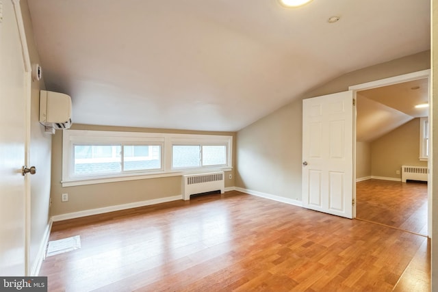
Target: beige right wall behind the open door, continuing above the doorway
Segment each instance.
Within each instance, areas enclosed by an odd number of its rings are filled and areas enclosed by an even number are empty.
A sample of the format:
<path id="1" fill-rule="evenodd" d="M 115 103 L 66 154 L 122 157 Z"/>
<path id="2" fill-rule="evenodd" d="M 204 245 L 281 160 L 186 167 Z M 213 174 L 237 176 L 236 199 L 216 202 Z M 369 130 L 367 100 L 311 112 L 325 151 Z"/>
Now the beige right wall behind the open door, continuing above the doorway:
<path id="1" fill-rule="evenodd" d="M 428 68 L 425 51 L 349 72 L 238 131 L 236 187 L 301 200 L 302 99 Z"/>

